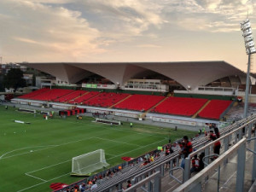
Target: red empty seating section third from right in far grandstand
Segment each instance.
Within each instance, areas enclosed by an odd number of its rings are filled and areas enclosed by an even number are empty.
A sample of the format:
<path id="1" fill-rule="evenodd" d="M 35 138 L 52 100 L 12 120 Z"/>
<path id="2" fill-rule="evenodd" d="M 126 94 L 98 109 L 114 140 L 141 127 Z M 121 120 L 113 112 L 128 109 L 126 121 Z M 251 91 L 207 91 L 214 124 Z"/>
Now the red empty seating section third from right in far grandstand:
<path id="1" fill-rule="evenodd" d="M 149 108 L 154 107 L 156 103 L 160 102 L 164 98 L 165 96 L 133 95 L 125 99 L 125 101 L 115 105 L 113 108 L 146 111 Z"/>

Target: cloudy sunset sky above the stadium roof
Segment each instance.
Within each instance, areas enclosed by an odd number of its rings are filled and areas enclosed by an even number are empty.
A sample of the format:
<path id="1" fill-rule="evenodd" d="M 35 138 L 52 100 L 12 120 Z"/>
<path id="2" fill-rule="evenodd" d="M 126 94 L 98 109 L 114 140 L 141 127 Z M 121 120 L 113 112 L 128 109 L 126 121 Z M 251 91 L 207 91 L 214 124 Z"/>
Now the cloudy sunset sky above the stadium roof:
<path id="1" fill-rule="evenodd" d="M 2 63 L 226 61 L 247 71 L 240 23 L 248 15 L 256 33 L 255 11 L 253 0 L 0 0 L 0 56 Z"/>

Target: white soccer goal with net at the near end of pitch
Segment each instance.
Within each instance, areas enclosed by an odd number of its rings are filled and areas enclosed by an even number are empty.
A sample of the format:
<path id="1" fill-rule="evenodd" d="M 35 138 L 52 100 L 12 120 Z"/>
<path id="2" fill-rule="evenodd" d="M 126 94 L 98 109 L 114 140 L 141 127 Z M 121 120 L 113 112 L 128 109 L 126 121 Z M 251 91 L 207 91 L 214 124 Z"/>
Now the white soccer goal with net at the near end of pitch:
<path id="1" fill-rule="evenodd" d="M 88 154 L 73 157 L 72 174 L 83 176 L 106 166 L 109 166 L 109 164 L 105 159 L 105 152 L 103 149 L 98 149 Z"/>

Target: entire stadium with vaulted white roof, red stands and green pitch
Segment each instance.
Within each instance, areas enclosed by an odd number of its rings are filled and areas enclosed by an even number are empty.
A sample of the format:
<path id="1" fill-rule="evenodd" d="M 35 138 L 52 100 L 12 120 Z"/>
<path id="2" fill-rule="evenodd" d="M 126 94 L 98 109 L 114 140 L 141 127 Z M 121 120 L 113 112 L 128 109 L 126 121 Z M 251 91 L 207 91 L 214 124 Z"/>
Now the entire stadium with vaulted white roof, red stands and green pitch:
<path id="1" fill-rule="evenodd" d="M 255 152 L 246 148 L 255 151 L 255 80 L 243 118 L 247 74 L 229 63 L 20 65 L 55 81 L 44 79 L 39 90 L 0 108 L 3 142 L 15 141 L 0 157 L 8 179 L 17 160 L 25 161 L 15 191 L 253 189 Z M 220 137 L 209 141 L 216 127 Z M 183 136 L 194 148 L 184 161 L 178 148 Z M 222 148 L 215 154 L 217 142 Z M 195 154 L 204 154 L 204 168 L 196 174 L 190 173 Z"/>

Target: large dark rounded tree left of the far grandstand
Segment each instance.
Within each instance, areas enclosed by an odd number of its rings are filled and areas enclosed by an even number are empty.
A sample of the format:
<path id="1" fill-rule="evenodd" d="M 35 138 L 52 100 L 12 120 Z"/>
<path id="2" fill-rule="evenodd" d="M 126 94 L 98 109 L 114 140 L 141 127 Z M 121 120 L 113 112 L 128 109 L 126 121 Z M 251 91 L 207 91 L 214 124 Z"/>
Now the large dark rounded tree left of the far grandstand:
<path id="1" fill-rule="evenodd" d="M 11 68 L 3 77 L 3 85 L 5 88 L 14 88 L 15 91 L 20 87 L 26 86 L 26 80 L 23 79 L 23 72 L 19 68 Z"/>

